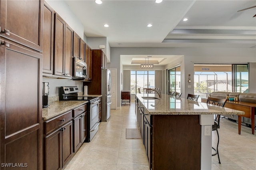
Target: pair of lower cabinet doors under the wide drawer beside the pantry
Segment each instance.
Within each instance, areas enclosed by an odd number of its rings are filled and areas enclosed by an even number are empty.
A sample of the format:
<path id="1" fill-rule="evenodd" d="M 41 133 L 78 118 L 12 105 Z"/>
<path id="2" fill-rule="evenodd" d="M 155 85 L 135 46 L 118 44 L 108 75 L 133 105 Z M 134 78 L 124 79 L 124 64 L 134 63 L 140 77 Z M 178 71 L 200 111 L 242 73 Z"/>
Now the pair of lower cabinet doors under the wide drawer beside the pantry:
<path id="1" fill-rule="evenodd" d="M 73 154 L 72 121 L 45 137 L 46 170 L 59 170 L 70 160 Z"/>

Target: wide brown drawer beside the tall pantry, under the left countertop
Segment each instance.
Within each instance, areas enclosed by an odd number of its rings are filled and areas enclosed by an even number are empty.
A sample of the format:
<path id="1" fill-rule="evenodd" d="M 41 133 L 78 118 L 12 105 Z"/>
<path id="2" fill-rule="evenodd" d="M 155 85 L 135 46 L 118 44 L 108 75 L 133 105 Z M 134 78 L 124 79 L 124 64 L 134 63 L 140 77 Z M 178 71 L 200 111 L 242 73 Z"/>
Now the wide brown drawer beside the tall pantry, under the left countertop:
<path id="1" fill-rule="evenodd" d="M 48 134 L 55 130 L 56 128 L 60 127 L 64 123 L 67 123 L 72 119 L 72 111 L 64 113 L 54 119 L 50 119 L 45 122 L 45 134 Z"/>

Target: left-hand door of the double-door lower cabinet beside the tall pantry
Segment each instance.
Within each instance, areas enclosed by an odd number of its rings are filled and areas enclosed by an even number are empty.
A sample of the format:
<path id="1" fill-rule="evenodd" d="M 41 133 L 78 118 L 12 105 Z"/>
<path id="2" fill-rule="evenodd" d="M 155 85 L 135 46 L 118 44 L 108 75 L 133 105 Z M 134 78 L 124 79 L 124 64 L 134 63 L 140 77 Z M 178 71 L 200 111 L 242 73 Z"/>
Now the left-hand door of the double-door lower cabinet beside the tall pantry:
<path id="1" fill-rule="evenodd" d="M 62 168 L 62 129 L 45 137 L 45 169 L 60 170 Z"/>

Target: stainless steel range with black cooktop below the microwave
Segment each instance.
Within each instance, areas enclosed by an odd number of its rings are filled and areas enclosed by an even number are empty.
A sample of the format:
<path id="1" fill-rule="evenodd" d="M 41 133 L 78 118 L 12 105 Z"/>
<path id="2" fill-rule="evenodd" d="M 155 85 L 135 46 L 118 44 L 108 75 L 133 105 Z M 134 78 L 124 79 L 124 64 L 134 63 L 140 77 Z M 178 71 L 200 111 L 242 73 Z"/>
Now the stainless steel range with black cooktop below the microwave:
<path id="1" fill-rule="evenodd" d="M 87 96 L 78 96 L 78 87 L 60 87 L 59 91 L 59 100 L 64 101 L 88 101 L 87 108 L 90 108 L 88 111 L 88 137 L 85 142 L 90 142 L 96 132 L 98 131 L 99 123 L 99 112 L 98 112 L 98 97 L 87 97 Z"/>

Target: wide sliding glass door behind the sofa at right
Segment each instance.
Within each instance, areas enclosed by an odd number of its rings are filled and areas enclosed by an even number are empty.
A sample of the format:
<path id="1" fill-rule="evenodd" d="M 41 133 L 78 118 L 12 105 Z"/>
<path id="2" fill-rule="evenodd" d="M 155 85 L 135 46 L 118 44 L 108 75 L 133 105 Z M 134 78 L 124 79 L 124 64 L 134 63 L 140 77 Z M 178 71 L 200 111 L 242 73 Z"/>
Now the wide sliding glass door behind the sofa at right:
<path id="1" fill-rule="evenodd" d="M 194 93 L 249 93 L 248 64 L 194 64 Z"/>

